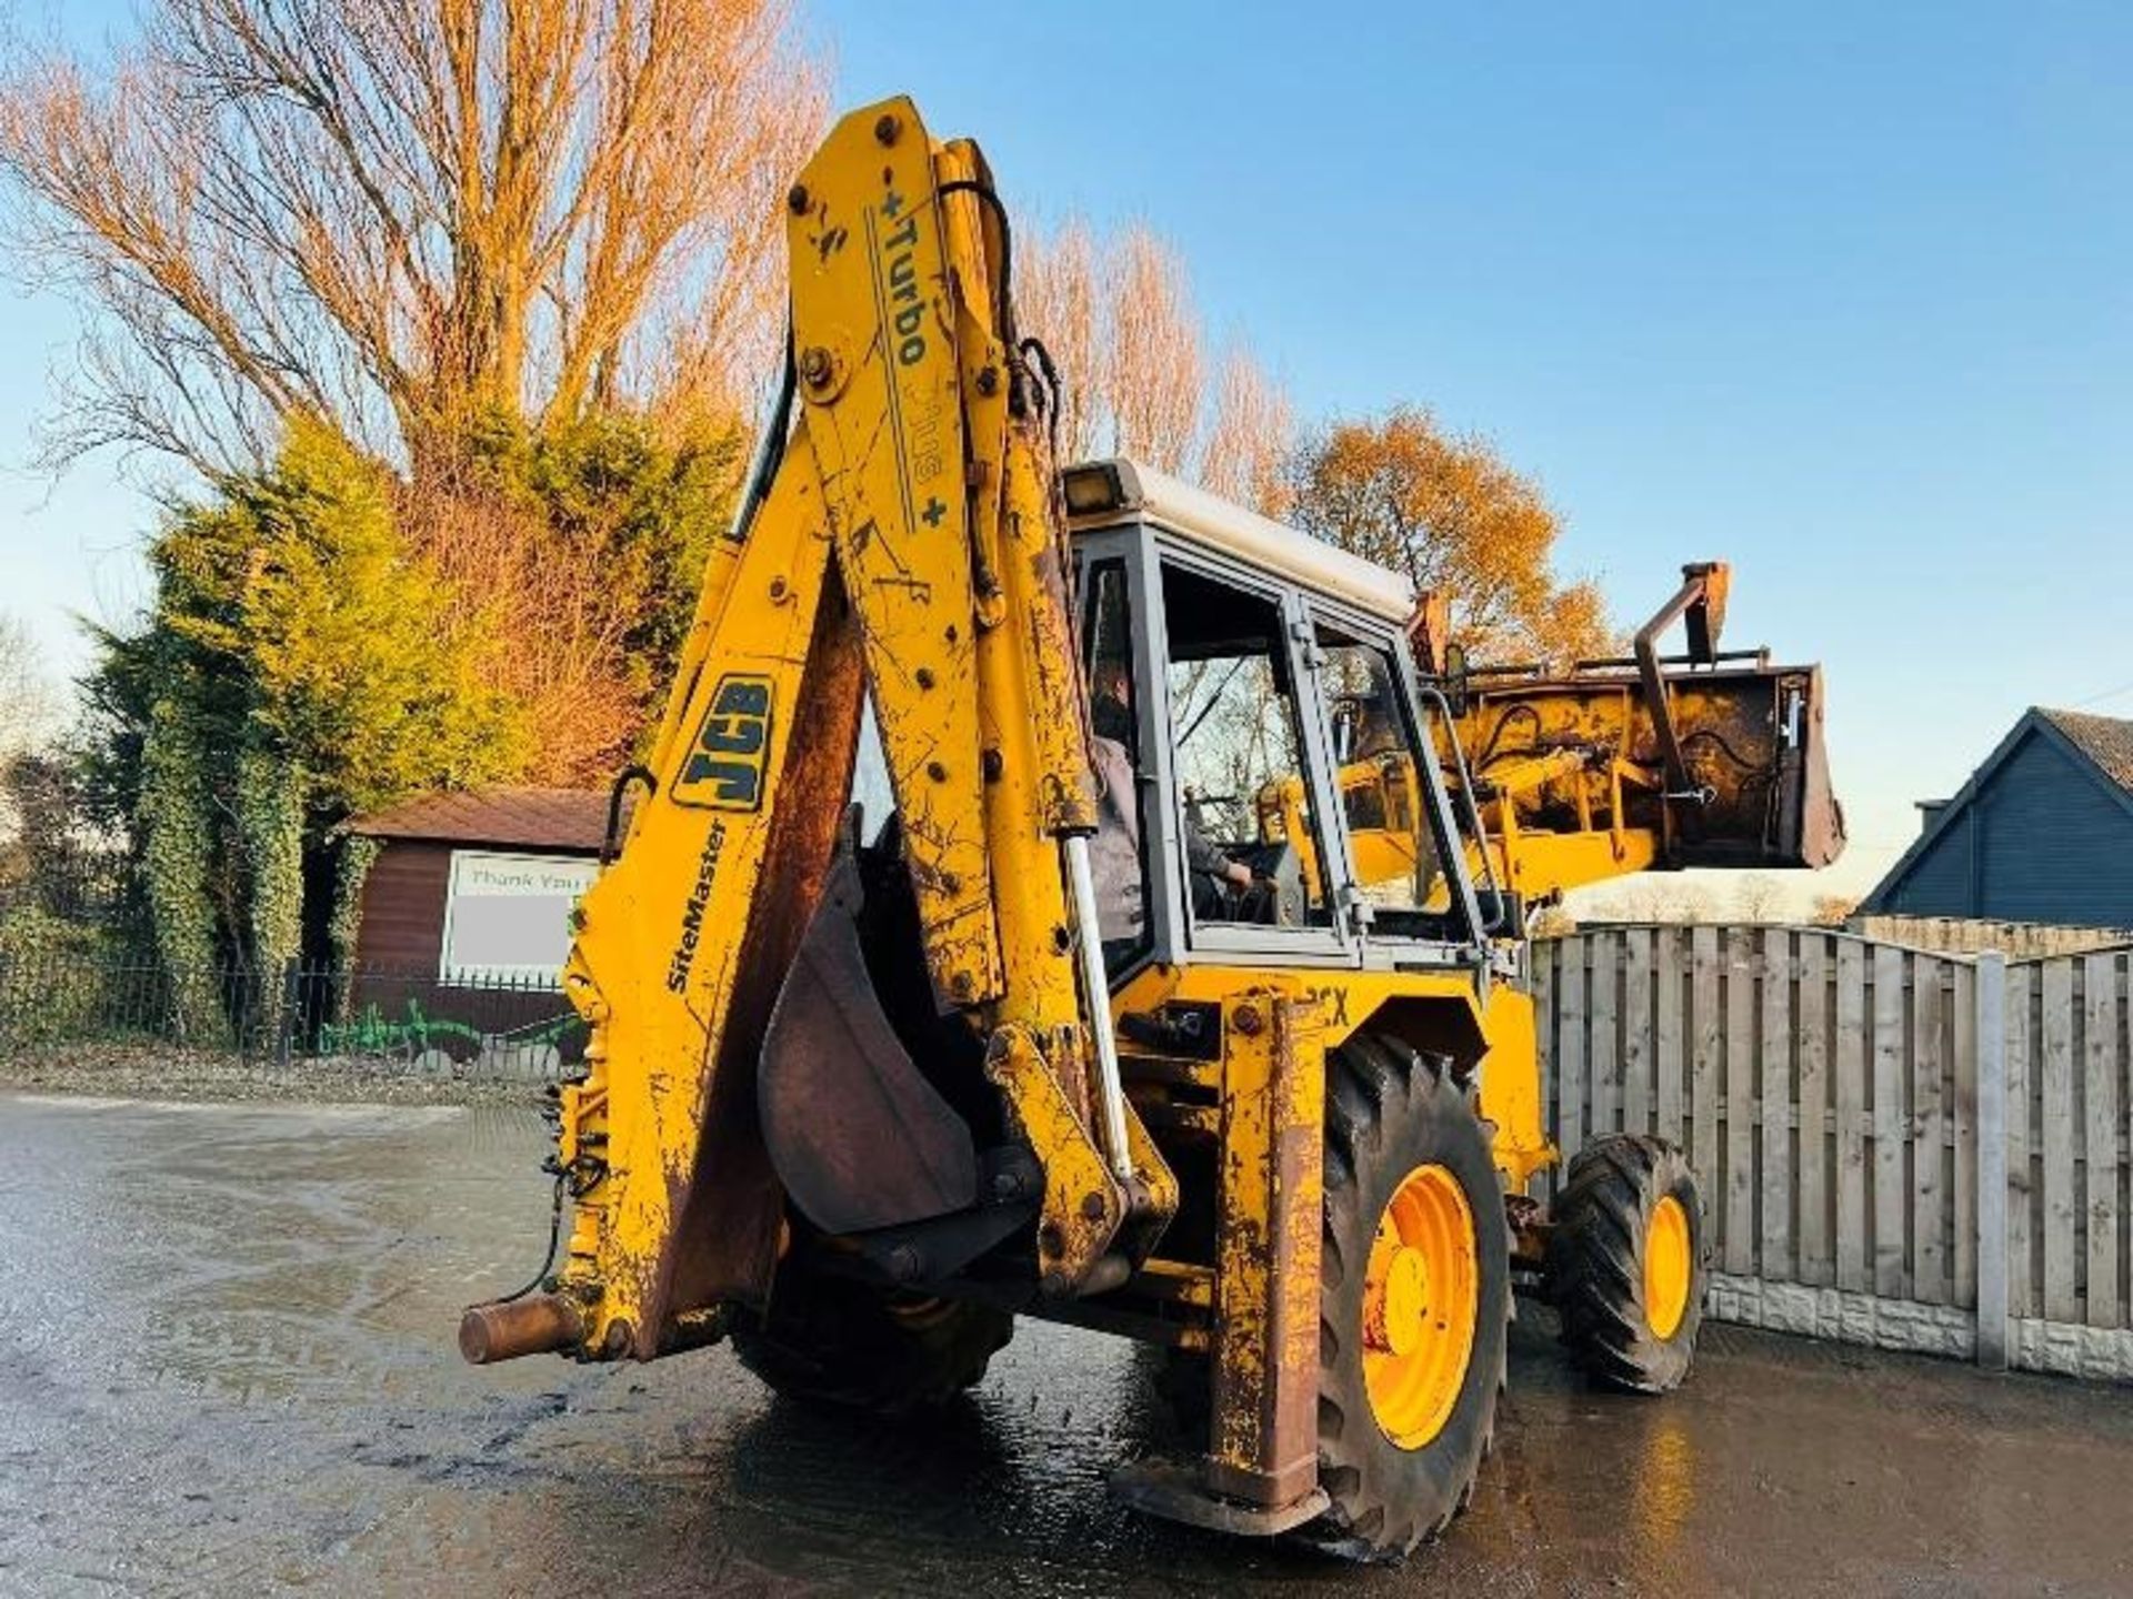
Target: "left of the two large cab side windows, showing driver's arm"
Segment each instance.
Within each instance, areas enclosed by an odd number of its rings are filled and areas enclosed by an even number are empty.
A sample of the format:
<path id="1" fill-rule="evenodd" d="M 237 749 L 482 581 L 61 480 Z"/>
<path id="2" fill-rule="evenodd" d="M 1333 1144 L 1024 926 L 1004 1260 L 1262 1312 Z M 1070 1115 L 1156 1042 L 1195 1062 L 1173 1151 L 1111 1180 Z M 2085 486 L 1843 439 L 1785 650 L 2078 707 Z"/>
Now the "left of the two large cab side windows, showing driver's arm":
<path id="1" fill-rule="evenodd" d="M 1331 925 L 1280 605 L 1165 563 L 1162 610 L 1192 921 Z"/>

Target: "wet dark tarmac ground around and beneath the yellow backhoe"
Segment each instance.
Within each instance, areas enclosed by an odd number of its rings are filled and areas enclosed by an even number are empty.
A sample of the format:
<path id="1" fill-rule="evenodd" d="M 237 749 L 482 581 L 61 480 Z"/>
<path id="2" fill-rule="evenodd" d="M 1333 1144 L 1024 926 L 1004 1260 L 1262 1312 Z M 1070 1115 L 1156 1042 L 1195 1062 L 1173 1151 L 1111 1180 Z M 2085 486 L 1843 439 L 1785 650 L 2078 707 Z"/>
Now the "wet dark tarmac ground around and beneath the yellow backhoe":
<path id="1" fill-rule="evenodd" d="M 0 1096 L 0 1593 L 2133 1593 L 2133 1396 L 1706 1328 L 1585 1392 L 1538 1318 L 1474 1509 L 1397 1569 L 1139 1520 L 1128 1345 L 1024 1324 L 853 1428 L 725 1350 L 459 1364 L 546 1237 L 516 1109 Z"/>

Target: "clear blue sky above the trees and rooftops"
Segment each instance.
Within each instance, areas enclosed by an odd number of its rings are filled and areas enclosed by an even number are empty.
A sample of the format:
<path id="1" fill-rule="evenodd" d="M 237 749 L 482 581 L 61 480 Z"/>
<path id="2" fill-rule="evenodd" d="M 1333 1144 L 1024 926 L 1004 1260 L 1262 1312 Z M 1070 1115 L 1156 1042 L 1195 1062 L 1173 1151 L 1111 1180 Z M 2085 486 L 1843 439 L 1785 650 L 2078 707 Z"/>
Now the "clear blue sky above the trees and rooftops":
<path id="1" fill-rule="evenodd" d="M 2133 9 L 802 4 L 843 104 L 1171 235 L 1308 416 L 1493 437 L 1621 620 L 1730 559 L 1728 642 L 1828 669 L 1832 887 L 2024 706 L 2133 716 Z M 0 296 L 0 461 L 73 337 Z M 147 520 L 0 478 L 0 605 L 79 659 Z"/>

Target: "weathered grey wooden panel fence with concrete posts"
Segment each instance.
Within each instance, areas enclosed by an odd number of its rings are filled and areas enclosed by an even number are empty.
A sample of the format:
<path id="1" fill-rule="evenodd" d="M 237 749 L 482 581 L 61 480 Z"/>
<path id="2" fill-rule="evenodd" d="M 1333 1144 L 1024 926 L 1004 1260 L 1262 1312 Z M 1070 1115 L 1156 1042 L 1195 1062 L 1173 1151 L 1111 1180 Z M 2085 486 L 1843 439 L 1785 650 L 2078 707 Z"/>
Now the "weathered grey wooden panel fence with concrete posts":
<path id="1" fill-rule="evenodd" d="M 1713 1315 L 2133 1377 L 2129 968 L 1809 927 L 1544 940 L 1551 1132 L 1566 1160 L 1619 1130 L 1689 1153 Z"/>

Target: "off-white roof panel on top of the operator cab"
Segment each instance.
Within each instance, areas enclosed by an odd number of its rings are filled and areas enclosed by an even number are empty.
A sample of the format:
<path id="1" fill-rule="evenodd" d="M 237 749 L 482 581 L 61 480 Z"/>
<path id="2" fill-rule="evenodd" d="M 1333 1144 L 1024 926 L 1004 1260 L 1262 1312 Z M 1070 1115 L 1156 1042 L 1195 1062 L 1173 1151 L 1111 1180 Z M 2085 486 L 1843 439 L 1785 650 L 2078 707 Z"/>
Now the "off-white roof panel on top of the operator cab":
<path id="1" fill-rule="evenodd" d="M 1066 520 L 1075 533 L 1150 522 L 1372 616 L 1406 623 L 1414 612 L 1414 586 L 1397 571 L 1139 461 L 1124 456 L 1086 461 L 1066 467 L 1060 478 L 1066 490 Z"/>

